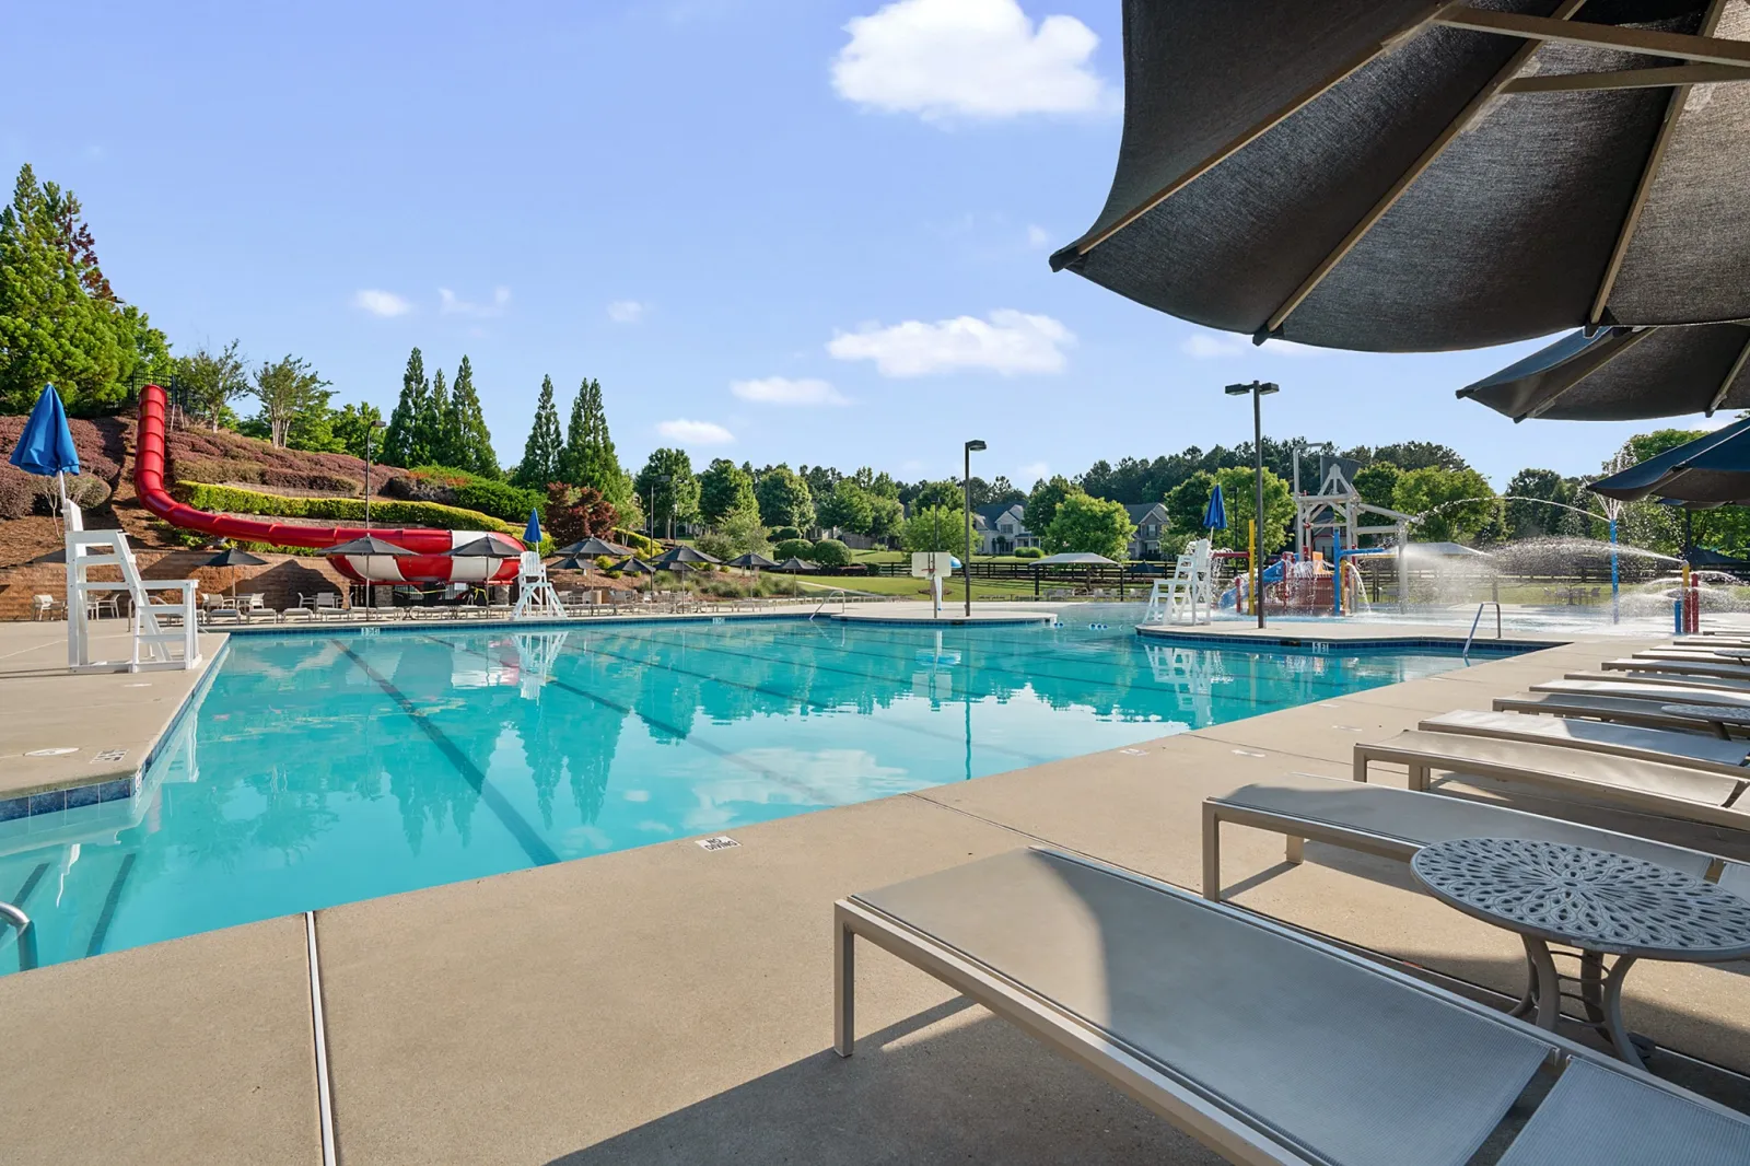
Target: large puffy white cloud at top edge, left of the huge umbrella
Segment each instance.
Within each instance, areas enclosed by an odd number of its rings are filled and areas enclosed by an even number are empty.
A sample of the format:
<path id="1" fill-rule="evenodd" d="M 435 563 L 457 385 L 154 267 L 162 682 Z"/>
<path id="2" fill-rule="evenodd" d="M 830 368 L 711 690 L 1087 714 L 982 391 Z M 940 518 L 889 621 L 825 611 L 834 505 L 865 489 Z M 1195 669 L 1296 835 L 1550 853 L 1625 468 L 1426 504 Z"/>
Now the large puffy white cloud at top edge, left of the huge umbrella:
<path id="1" fill-rule="evenodd" d="M 945 121 L 1118 107 L 1090 68 L 1094 30 L 1073 16 L 1034 26 L 1018 0 L 898 0 L 845 32 L 833 89 L 872 109 Z"/>

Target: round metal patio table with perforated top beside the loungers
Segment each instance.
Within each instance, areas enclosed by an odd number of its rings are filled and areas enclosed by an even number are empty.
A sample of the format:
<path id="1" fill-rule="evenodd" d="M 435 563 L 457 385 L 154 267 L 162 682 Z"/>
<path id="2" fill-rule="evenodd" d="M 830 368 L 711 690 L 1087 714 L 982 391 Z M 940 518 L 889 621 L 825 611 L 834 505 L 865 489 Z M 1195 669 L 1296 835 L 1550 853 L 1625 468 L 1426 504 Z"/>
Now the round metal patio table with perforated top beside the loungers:
<path id="1" fill-rule="evenodd" d="M 1750 900 L 1640 858 L 1538 839 L 1452 839 L 1410 860 L 1440 902 L 1517 931 L 1528 986 L 1514 1015 L 1535 1014 L 1556 1031 L 1563 982 L 1578 984 L 1584 1015 L 1617 1056 L 1645 1068 L 1622 1024 L 1622 980 L 1636 959 L 1724 963 L 1750 956 Z M 1550 951 L 1550 944 L 1573 951 Z M 1561 975 L 1554 956 L 1578 958 Z M 1615 956 L 1605 966 L 1605 956 Z"/>

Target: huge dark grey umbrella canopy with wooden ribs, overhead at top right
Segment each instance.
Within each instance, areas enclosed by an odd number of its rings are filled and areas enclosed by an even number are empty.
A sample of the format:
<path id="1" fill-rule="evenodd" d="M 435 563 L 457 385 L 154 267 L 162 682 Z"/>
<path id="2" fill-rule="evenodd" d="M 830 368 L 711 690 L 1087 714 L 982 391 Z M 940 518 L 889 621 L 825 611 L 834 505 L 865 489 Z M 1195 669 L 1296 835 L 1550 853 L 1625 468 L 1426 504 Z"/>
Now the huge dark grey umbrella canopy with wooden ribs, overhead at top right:
<path id="1" fill-rule="evenodd" d="M 1372 352 L 1750 317 L 1750 102 L 1690 93 L 1745 77 L 1750 11 L 1489 7 L 1124 0 L 1116 173 L 1052 266 Z"/>

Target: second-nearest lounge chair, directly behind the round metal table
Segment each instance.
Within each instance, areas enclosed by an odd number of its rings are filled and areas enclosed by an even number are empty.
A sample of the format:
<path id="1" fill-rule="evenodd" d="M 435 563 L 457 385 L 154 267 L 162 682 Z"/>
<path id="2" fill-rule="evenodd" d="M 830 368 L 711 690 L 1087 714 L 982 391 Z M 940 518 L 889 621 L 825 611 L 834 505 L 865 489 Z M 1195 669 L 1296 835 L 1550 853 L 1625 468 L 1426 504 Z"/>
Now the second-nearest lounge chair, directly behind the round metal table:
<path id="1" fill-rule="evenodd" d="M 1726 882 L 1731 874 L 1736 882 L 1750 874 L 1750 865 L 1703 851 L 1489 802 L 1284 774 L 1204 798 L 1204 898 L 1214 902 L 1222 898 L 1222 823 L 1288 835 L 1292 863 L 1302 860 L 1307 839 L 1404 863 L 1421 847 L 1451 839 L 1542 839 L 1643 858 L 1698 879 Z"/>

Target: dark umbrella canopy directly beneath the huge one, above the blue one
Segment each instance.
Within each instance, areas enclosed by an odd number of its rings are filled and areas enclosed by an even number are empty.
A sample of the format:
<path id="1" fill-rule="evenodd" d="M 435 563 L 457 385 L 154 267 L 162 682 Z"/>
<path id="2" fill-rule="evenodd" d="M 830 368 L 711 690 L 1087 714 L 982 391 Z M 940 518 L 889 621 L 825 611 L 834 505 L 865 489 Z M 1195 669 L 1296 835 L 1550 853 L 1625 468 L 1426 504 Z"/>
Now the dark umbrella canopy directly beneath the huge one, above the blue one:
<path id="1" fill-rule="evenodd" d="M 1516 422 L 1750 408 L 1750 322 L 1573 333 L 1458 390 Z"/>

